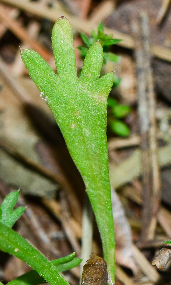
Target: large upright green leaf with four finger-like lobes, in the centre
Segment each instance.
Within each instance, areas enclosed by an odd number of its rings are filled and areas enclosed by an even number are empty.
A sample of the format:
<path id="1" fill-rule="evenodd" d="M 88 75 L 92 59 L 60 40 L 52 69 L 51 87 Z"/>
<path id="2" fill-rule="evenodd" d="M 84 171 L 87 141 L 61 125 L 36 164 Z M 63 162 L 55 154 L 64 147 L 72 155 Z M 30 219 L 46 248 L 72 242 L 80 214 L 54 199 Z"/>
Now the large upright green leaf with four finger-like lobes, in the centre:
<path id="1" fill-rule="evenodd" d="M 52 31 L 58 75 L 32 50 L 21 50 L 29 75 L 50 107 L 69 152 L 85 182 L 100 231 L 104 259 L 112 280 L 115 274 L 115 238 L 106 138 L 107 96 L 114 73 L 101 78 L 103 48 L 95 42 L 77 77 L 72 29 L 60 17 Z"/>

